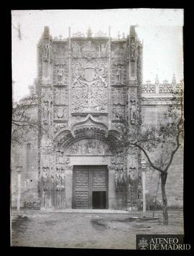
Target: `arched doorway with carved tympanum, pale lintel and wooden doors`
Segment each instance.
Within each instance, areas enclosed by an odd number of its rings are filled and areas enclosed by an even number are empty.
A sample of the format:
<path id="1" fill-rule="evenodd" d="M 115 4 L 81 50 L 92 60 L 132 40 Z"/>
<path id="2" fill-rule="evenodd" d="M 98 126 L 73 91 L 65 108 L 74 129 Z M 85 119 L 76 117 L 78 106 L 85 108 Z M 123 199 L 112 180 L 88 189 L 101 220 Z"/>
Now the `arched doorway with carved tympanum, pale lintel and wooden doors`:
<path id="1" fill-rule="evenodd" d="M 110 146 L 103 140 L 83 138 L 68 145 L 64 151 L 68 208 L 108 209 L 109 189 L 114 193 Z"/>

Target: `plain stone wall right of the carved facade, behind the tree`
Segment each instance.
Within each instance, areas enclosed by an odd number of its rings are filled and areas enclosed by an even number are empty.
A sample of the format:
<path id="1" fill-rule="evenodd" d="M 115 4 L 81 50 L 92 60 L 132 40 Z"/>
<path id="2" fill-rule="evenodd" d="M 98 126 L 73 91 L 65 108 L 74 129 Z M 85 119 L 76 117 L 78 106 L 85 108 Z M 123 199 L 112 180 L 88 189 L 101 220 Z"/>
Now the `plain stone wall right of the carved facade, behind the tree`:
<path id="1" fill-rule="evenodd" d="M 167 106 L 144 106 L 142 108 L 144 122 L 149 125 L 159 125 L 161 122 L 167 122 L 167 120 L 165 121 L 164 117 L 165 109 L 167 109 Z M 151 159 L 153 161 L 155 160 L 155 156 L 157 154 L 158 152 L 151 154 Z M 147 170 L 147 201 L 150 201 L 150 207 L 152 207 L 153 202 L 157 196 L 157 205 L 160 206 L 162 205 L 161 180 L 160 183 L 158 183 L 160 173 L 157 170 L 153 170 L 151 168 L 148 168 Z M 168 206 L 183 207 L 183 146 L 177 150 L 174 159 L 172 160 L 172 164 L 168 170 L 166 193 Z"/>

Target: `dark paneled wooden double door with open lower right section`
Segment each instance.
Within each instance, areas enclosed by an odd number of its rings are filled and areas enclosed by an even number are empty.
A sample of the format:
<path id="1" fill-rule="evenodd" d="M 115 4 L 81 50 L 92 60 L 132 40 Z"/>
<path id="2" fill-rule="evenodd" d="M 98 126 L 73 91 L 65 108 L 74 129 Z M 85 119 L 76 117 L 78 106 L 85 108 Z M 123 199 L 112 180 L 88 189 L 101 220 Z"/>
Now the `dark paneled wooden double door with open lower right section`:
<path id="1" fill-rule="evenodd" d="M 73 209 L 108 209 L 106 165 L 74 166 Z"/>

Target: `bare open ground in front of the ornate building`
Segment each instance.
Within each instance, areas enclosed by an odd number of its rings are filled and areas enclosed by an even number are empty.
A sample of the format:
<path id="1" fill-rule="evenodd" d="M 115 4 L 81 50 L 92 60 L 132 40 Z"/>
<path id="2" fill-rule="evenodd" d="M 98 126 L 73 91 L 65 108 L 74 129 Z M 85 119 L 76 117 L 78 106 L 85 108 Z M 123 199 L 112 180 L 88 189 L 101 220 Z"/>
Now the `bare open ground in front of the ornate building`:
<path id="1" fill-rule="evenodd" d="M 152 213 L 148 214 L 152 216 Z M 183 212 L 170 211 L 168 226 L 159 219 L 134 219 L 142 213 L 100 214 L 47 211 L 12 212 L 11 245 L 135 249 L 136 234 L 183 234 Z"/>

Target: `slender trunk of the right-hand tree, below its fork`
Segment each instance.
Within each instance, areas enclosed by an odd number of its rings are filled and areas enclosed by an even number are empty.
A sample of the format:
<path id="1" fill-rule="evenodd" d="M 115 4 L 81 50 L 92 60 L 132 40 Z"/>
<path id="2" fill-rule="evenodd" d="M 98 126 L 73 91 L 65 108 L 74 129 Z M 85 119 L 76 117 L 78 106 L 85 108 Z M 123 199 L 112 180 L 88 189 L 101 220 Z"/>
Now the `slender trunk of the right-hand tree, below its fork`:
<path id="1" fill-rule="evenodd" d="M 168 224 L 168 214 L 167 214 L 167 196 L 166 196 L 166 185 L 167 173 L 161 173 L 161 191 L 162 191 L 162 203 L 163 203 L 163 224 Z"/>

